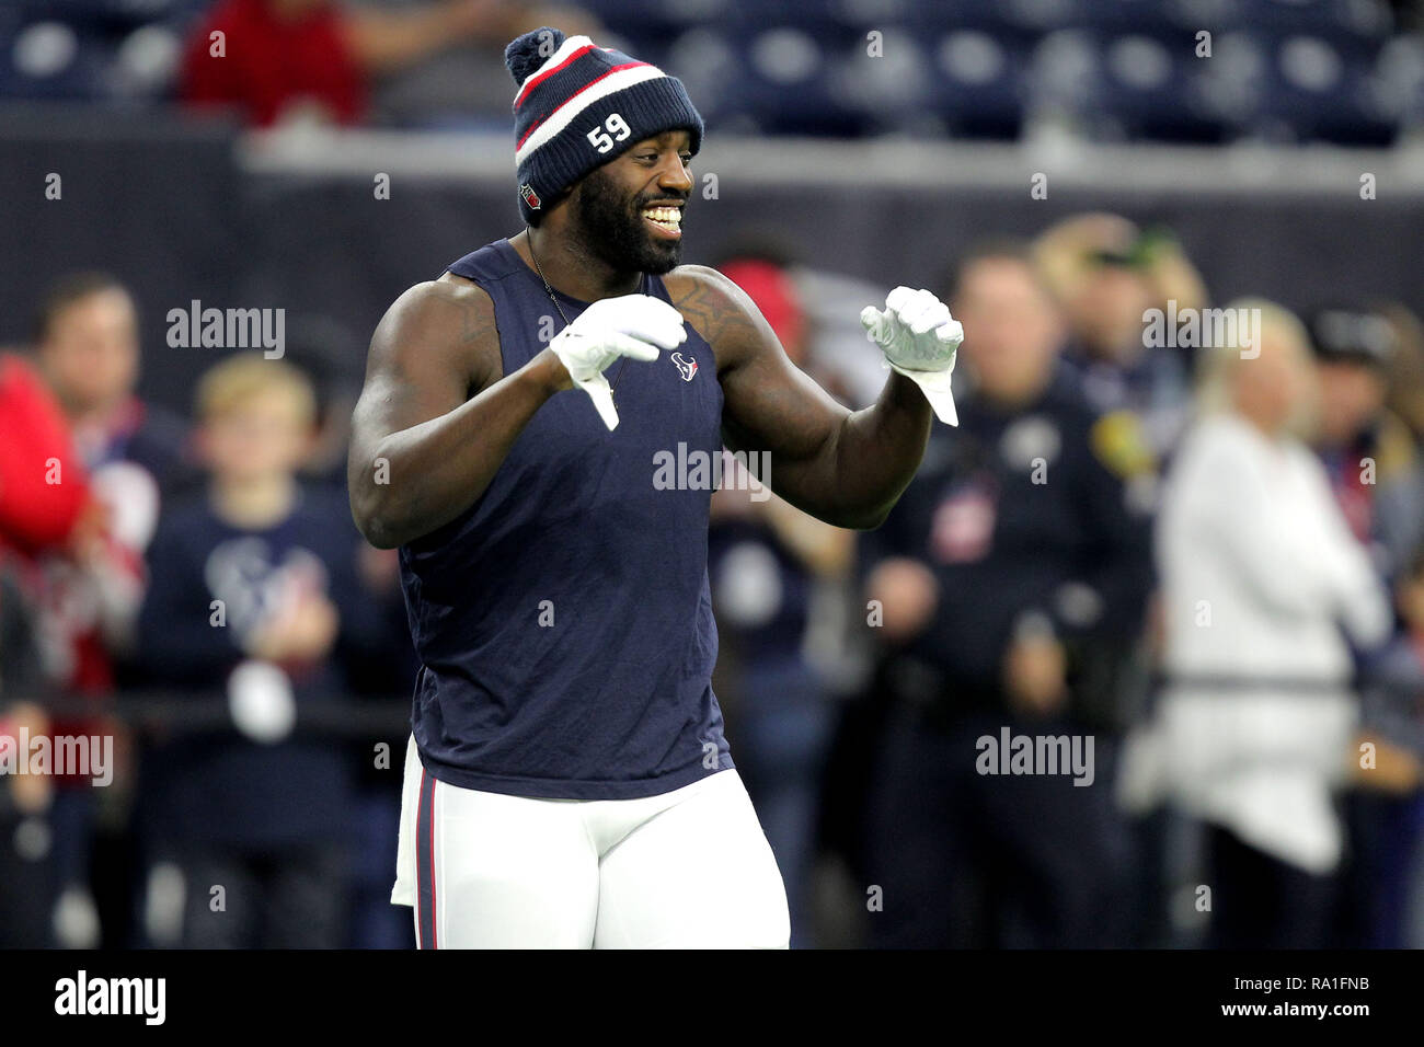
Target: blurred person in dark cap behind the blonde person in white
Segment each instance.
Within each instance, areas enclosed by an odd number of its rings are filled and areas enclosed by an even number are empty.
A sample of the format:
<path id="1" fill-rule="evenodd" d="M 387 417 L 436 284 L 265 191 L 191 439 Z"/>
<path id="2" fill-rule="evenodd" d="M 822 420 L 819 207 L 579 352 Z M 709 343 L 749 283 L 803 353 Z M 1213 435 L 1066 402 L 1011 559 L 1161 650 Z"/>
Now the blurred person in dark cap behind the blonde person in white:
<path id="1" fill-rule="evenodd" d="M 1350 530 L 1391 577 L 1424 537 L 1424 462 L 1410 427 L 1384 406 L 1394 329 L 1373 312 L 1323 309 L 1310 333 L 1320 375 L 1316 449 Z"/>

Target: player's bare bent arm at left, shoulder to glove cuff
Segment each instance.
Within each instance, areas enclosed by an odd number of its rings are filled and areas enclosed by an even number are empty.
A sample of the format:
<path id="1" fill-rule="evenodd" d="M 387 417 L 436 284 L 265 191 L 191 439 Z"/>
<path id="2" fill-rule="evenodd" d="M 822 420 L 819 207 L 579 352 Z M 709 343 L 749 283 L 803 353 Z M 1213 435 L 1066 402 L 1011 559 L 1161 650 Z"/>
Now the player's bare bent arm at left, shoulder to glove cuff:
<path id="1" fill-rule="evenodd" d="M 494 305 L 474 282 L 446 274 L 386 312 L 347 459 L 352 516 L 373 546 L 402 546 L 468 509 L 540 405 L 571 385 L 550 350 L 501 370 Z"/>

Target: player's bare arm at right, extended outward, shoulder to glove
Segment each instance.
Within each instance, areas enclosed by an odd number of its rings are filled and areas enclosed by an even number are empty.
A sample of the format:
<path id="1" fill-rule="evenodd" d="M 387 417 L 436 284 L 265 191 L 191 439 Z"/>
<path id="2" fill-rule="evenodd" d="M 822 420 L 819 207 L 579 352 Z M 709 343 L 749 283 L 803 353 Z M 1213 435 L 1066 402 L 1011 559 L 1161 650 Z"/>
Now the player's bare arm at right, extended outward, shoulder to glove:
<path id="1" fill-rule="evenodd" d="M 726 446 L 769 452 L 770 487 L 797 509 L 840 527 L 877 527 L 918 469 L 930 434 L 933 412 L 916 383 L 891 373 L 874 406 L 847 410 L 787 359 L 726 276 L 684 265 L 666 285 L 716 353 Z"/>

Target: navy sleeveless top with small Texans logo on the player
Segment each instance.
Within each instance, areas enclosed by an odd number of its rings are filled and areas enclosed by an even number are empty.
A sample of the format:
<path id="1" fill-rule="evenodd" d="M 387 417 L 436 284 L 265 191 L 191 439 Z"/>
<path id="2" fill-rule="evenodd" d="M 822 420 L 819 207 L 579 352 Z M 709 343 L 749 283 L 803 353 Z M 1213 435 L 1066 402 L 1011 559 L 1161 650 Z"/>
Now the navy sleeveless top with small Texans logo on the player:
<path id="1" fill-rule="evenodd" d="M 507 239 L 449 271 L 494 301 L 506 375 L 562 328 Z M 588 306 L 558 302 L 570 321 Z M 441 782 L 631 799 L 733 766 L 711 682 L 712 491 L 691 466 L 669 489 L 665 467 L 721 453 L 716 360 L 689 323 L 676 355 L 605 373 L 618 379 L 617 429 L 582 390 L 557 393 L 470 509 L 400 548 L 420 658 L 412 728 Z"/>

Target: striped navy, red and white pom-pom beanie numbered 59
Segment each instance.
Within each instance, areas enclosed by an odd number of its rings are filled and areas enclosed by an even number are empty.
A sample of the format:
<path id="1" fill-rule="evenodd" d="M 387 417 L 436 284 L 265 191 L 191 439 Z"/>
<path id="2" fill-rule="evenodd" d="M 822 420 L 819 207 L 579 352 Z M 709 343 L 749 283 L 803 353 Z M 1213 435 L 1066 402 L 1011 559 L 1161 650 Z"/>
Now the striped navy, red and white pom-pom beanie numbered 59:
<path id="1" fill-rule="evenodd" d="M 685 128 L 702 147 L 702 117 L 682 81 L 588 37 L 544 26 L 513 40 L 514 164 L 528 225 L 590 171 L 644 138 Z"/>

